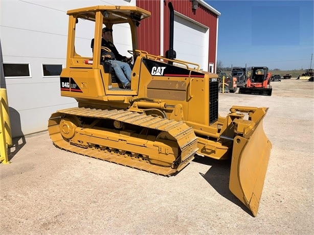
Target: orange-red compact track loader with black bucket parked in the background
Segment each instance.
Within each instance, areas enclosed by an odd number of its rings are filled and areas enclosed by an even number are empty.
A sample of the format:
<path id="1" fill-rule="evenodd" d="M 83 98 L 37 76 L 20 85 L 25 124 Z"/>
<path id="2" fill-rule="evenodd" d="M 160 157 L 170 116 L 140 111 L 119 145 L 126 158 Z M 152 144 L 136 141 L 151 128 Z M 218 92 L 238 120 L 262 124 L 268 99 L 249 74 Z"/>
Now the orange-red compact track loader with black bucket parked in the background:
<path id="1" fill-rule="evenodd" d="M 271 96 L 273 91 L 271 77 L 272 74 L 268 73 L 267 67 L 252 67 L 251 77 L 245 87 L 239 88 L 239 93 Z"/>

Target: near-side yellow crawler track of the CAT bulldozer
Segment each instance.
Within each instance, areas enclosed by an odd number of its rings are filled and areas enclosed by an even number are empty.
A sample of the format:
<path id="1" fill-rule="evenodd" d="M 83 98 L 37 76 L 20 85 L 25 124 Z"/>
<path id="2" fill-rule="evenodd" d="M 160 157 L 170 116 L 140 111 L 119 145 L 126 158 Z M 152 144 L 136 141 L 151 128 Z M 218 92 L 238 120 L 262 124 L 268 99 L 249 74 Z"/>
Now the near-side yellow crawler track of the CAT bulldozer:
<path id="1" fill-rule="evenodd" d="M 103 127 L 110 122 L 115 128 Z M 59 110 L 48 131 L 60 149 L 164 176 L 182 170 L 198 150 L 197 137 L 184 122 L 128 110 Z"/>

